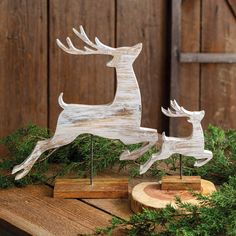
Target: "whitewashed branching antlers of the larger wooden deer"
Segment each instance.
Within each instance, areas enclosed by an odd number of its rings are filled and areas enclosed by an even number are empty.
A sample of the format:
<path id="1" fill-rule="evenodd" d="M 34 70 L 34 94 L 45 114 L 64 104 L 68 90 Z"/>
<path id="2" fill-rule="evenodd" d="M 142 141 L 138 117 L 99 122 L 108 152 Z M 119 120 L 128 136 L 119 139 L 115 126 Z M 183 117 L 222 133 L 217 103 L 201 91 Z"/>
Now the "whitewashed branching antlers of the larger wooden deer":
<path id="1" fill-rule="evenodd" d="M 82 26 L 79 27 L 80 32 L 73 28 L 73 32 L 78 36 L 82 41 L 84 41 L 91 48 L 84 46 L 84 50 L 78 49 L 74 46 L 71 39 L 69 37 L 66 38 L 68 47 L 66 47 L 59 39 L 56 40 L 57 45 L 65 52 L 74 54 L 74 55 L 88 55 L 88 54 L 108 54 L 112 55 L 115 51 L 115 48 L 106 46 L 103 44 L 97 37 L 95 37 L 95 43 L 93 43 L 85 33 Z M 94 50 L 96 49 L 96 50 Z"/>

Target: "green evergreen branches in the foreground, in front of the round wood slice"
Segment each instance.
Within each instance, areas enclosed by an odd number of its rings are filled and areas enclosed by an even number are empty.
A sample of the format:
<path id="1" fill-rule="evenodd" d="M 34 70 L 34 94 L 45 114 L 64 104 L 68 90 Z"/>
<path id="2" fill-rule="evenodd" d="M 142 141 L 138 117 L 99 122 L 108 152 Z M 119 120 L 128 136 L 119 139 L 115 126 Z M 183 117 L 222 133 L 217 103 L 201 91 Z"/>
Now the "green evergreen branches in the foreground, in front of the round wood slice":
<path id="1" fill-rule="evenodd" d="M 98 229 L 97 235 L 112 235 L 118 227 L 130 236 L 236 235 L 236 177 L 229 178 L 210 197 L 195 196 L 200 201 L 198 206 L 176 198 L 178 208 L 168 205 L 160 211 L 144 209 L 128 220 L 113 218 L 111 226 Z"/>

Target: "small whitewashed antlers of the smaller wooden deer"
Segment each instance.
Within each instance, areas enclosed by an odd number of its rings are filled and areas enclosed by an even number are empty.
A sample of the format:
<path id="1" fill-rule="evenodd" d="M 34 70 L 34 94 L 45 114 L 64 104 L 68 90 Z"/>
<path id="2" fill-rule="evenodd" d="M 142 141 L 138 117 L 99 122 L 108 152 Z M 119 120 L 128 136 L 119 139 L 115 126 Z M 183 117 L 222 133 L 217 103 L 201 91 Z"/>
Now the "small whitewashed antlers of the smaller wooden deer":
<path id="1" fill-rule="evenodd" d="M 186 109 L 184 109 L 183 107 L 180 107 L 179 104 L 175 101 L 175 100 L 171 100 L 170 101 L 170 105 L 171 108 L 173 110 L 171 110 L 170 108 L 168 108 L 167 110 L 164 109 L 163 107 L 161 108 L 161 111 L 169 117 L 190 117 L 192 115 L 191 111 L 188 111 Z"/>

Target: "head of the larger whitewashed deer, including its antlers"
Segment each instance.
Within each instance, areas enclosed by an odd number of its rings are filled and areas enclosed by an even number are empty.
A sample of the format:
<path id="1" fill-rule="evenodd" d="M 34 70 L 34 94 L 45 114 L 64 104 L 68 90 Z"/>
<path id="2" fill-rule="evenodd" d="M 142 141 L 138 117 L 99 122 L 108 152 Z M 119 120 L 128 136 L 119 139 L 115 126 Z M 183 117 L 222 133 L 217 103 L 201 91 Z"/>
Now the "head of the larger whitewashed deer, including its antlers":
<path id="1" fill-rule="evenodd" d="M 103 44 L 97 37 L 95 43 L 90 41 L 82 26 L 80 32 L 73 28 L 73 32 L 89 47 L 84 46 L 84 50 L 76 48 L 69 37 L 66 38 L 68 46 L 65 46 L 59 39 L 57 45 L 65 52 L 74 55 L 92 55 L 105 54 L 113 56 L 113 59 L 107 63 L 108 67 L 117 67 L 120 63 L 133 63 L 142 50 L 142 44 L 136 44 L 133 47 L 113 48 Z"/>

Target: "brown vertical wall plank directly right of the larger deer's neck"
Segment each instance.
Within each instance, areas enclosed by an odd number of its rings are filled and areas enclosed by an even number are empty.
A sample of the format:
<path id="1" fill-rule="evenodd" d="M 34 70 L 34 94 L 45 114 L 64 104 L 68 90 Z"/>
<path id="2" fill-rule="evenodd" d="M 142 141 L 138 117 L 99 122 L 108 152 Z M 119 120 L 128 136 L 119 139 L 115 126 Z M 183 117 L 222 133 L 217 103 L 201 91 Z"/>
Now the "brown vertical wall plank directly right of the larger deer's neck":
<path id="1" fill-rule="evenodd" d="M 134 64 L 139 82 L 144 127 L 168 129 L 160 107 L 167 105 L 166 81 L 166 11 L 167 1 L 117 1 L 117 46 L 142 42 L 142 52 Z"/>

